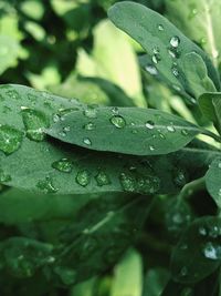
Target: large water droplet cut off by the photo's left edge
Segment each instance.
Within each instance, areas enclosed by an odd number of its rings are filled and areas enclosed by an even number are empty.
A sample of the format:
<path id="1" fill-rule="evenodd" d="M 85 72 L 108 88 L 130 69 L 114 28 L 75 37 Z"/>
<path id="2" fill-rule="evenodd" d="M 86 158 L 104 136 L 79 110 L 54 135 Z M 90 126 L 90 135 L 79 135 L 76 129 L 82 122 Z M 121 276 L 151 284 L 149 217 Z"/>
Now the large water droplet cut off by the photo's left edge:
<path id="1" fill-rule="evenodd" d="M 17 151 L 21 145 L 23 133 L 19 130 L 9 125 L 0 125 L 0 150 L 6 154 Z"/>

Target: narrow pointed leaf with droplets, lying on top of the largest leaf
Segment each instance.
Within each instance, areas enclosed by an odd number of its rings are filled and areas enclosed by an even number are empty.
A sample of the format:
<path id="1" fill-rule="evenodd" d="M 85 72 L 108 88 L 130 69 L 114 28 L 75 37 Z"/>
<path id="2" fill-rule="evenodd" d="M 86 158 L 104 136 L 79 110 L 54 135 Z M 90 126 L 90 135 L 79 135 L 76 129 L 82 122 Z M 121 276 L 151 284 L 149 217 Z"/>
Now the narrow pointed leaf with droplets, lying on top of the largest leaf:
<path id="1" fill-rule="evenodd" d="M 67 130 L 62 134 L 63 130 Z M 63 142 L 92 150 L 159 155 L 187 145 L 200 127 L 158 110 L 90 108 L 70 112 L 46 131 Z"/>

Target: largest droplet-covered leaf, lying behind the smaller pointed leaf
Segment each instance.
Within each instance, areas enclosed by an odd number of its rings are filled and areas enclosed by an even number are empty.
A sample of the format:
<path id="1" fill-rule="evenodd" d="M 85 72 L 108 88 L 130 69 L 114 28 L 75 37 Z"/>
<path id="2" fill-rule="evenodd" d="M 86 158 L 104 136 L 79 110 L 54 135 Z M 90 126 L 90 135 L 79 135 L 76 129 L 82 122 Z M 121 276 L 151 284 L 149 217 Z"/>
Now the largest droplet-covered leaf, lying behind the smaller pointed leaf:
<path id="1" fill-rule="evenodd" d="M 182 171 L 185 185 L 199 173 L 204 174 L 208 163 L 219 155 L 208 145 L 199 149 L 193 145 L 179 154 L 155 157 L 77 149 L 45 137 L 43 133 L 44 126 L 64 116 L 67 109 L 81 109 L 75 100 L 19 85 L 2 85 L 0 94 L 0 110 L 3 111 L 0 123 L 10 126 L 10 133 L 0 129 L 3 139 L 8 139 L 2 142 L 4 152 L 0 152 L 0 183 L 9 186 L 48 194 L 173 193 L 180 188 L 180 182 L 176 181 L 178 171 Z M 86 110 L 87 115 L 94 114 L 93 109 Z M 22 141 L 21 136 L 19 141 L 12 136 L 14 131 L 19 131 L 19 136 L 22 133 Z M 189 163 L 187 157 L 191 160 Z"/>

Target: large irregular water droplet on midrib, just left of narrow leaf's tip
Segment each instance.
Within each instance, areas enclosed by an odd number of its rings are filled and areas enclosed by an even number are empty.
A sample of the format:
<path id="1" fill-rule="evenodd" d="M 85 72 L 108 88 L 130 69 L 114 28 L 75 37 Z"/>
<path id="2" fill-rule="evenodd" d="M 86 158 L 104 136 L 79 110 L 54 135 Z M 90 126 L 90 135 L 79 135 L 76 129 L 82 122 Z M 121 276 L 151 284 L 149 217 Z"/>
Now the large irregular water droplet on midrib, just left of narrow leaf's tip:
<path id="1" fill-rule="evenodd" d="M 25 109 L 22 110 L 22 119 L 30 140 L 40 142 L 45 137 L 44 130 L 49 127 L 49 120 L 43 112 Z"/>

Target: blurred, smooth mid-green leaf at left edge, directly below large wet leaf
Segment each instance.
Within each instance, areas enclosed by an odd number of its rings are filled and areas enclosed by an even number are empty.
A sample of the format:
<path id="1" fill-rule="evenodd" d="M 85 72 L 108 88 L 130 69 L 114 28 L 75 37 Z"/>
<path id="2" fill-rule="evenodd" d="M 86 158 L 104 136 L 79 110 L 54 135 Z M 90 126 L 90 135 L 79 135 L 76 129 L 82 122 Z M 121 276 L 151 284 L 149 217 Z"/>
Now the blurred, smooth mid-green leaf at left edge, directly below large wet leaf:
<path id="1" fill-rule="evenodd" d="M 7 225 L 73 217 L 90 195 L 45 195 L 9 188 L 0 195 L 0 222 Z"/>

